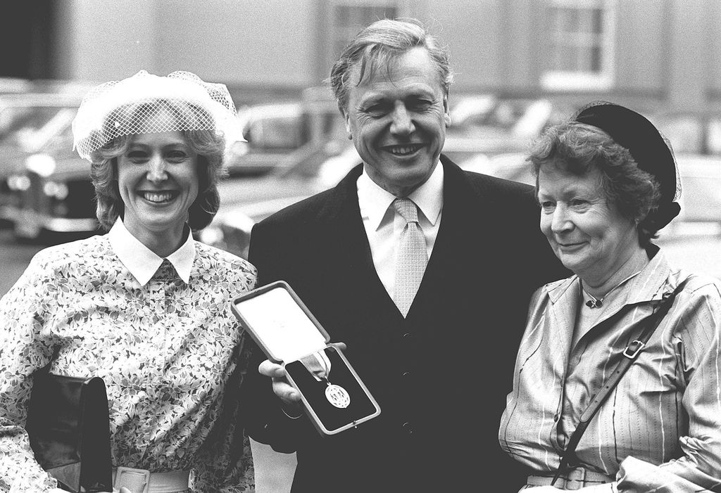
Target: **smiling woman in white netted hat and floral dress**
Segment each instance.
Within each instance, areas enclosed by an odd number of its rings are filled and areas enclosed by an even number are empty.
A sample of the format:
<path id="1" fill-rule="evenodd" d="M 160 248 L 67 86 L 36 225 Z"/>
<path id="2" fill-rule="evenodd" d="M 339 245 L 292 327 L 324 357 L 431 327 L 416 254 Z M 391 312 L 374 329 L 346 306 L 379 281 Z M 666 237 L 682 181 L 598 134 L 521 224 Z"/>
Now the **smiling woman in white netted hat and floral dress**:
<path id="1" fill-rule="evenodd" d="M 24 429 L 32 375 L 48 365 L 105 381 L 114 489 L 252 489 L 229 301 L 255 268 L 192 234 L 218 211 L 235 116 L 226 86 L 188 72 L 140 71 L 82 101 L 75 146 L 107 234 L 40 251 L 0 300 L 0 490 L 56 488 Z"/>

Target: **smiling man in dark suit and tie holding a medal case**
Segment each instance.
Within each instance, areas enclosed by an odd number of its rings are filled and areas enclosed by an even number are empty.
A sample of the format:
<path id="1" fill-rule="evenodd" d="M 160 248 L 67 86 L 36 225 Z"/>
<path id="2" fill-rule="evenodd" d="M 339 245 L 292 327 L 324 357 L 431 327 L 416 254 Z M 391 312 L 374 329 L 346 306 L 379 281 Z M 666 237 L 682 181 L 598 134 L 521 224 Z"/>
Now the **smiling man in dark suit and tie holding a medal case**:
<path id="1" fill-rule="evenodd" d="M 531 187 L 441 153 L 451 80 L 448 53 L 417 22 L 360 32 L 331 85 L 363 162 L 252 232 L 260 284 L 291 285 L 381 407 L 322 438 L 256 348 L 247 430 L 297 451 L 293 492 L 505 492 L 525 479 L 497 445 L 498 422 L 530 295 L 566 272 Z"/>

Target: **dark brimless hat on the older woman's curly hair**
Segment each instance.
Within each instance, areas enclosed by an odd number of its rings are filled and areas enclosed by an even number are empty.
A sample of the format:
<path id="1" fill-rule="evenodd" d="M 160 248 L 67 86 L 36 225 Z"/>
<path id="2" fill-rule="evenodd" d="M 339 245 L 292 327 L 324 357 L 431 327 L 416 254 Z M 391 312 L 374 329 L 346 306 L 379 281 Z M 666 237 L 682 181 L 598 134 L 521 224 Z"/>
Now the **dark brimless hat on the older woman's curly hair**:
<path id="1" fill-rule="evenodd" d="M 638 167 L 653 176 L 660 185 L 658 208 L 643 221 L 651 230 L 660 230 L 681 212 L 676 199 L 677 183 L 673 151 L 660 132 L 642 114 L 606 101 L 596 101 L 578 112 L 575 121 L 600 128 L 619 145 L 629 150 Z"/>

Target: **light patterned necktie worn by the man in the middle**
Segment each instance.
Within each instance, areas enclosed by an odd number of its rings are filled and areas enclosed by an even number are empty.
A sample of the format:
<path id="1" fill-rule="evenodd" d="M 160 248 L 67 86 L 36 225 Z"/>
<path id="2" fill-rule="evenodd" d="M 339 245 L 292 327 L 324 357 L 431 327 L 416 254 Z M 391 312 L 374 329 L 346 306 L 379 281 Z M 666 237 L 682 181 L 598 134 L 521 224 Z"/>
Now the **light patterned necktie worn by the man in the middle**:
<path id="1" fill-rule="evenodd" d="M 418 209 L 411 199 L 395 199 L 393 207 L 406 221 L 396 253 L 396 286 L 393 301 L 405 317 L 423 279 L 428 252 L 418 224 Z"/>

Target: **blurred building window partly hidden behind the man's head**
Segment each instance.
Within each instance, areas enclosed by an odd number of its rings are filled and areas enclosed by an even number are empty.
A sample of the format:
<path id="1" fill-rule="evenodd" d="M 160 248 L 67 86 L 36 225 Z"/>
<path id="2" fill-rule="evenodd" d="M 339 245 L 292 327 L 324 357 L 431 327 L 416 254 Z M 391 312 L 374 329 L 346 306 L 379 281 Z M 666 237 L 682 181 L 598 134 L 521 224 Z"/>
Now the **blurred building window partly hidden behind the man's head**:
<path id="1" fill-rule="evenodd" d="M 398 17 L 397 1 L 382 0 L 332 0 L 332 55 L 340 52 L 363 27 L 379 19 Z"/>

